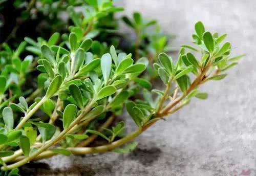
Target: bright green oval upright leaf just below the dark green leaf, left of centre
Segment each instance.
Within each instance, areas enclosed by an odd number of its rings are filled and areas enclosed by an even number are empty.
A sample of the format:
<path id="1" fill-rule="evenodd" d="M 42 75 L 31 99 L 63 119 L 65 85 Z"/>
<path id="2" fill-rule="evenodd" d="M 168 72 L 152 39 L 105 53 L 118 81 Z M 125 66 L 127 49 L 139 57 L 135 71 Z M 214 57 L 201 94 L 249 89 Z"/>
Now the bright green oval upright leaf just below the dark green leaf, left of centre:
<path id="1" fill-rule="evenodd" d="M 63 128 L 67 129 L 69 125 L 74 121 L 77 113 L 77 107 L 74 104 L 66 106 L 63 112 Z"/>

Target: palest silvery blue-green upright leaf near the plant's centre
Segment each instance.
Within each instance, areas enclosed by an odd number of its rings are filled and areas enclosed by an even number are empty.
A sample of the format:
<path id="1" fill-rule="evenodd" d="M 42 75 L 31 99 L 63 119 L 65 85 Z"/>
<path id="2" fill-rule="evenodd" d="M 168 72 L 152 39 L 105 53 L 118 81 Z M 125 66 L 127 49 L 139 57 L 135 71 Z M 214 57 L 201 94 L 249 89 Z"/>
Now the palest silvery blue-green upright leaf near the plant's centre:
<path id="1" fill-rule="evenodd" d="M 111 72 L 112 59 L 109 53 L 103 54 L 100 61 L 104 82 L 108 82 Z"/>

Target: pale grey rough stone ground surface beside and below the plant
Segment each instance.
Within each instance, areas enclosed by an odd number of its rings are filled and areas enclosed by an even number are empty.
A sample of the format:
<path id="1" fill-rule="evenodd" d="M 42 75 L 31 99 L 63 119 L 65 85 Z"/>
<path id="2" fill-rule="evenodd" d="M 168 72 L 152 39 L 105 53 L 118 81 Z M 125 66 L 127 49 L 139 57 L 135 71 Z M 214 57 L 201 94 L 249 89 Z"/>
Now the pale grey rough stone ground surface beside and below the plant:
<path id="1" fill-rule="evenodd" d="M 28 165 L 38 175 L 256 175 L 256 2 L 241 0 L 126 0 L 126 14 L 142 11 L 176 34 L 174 47 L 191 42 L 194 24 L 228 33 L 233 54 L 246 53 L 226 79 L 202 87 L 205 101 L 193 100 L 182 111 L 141 135 L 127 155 L 56 156 Z M 132 124 L 132 123 L 131 123 Z M 40 168 L 39 168 L 40 167 Z"/>

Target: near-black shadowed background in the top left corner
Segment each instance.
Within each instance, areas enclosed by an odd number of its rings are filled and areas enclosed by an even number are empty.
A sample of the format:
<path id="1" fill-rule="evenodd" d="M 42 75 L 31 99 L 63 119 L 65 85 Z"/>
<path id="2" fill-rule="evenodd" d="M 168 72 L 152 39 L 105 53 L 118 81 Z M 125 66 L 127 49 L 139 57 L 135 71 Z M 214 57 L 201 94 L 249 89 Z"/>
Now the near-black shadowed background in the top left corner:
<path id="1" fill-rule="evenodd" d="M 16 47 L 26 36 L 36 39 L 38 36 L 49 38 L 51 35 L 49 22 L 54 23 L 54 19 L 51 21 L 39 12 L 32 18 L 26 8 L 15 8 L 13 1 L 6 1 L 1 6 L 3 26 L 0 28 L 0 43 L 7 41 L 10 46 Z"/>

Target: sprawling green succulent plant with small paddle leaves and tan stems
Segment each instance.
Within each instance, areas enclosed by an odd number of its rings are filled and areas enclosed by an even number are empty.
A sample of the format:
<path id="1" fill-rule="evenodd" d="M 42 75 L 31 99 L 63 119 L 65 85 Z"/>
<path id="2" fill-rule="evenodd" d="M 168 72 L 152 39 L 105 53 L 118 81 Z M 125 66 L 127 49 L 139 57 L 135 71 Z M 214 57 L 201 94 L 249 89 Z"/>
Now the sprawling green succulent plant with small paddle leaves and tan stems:
<path id="1" fill-rule="evenodd" d="M 175 62 L 162 53 L 166 38 L 147 47 L 140 45 L 143 37 L 139 35 L 155 21 L 145 23 L 139 13 L 134 14 L 134 21 L 123 17 L 138 37 L 131 50 L 135 57 L 102 45 L 91 39 L 95 37 L 91 32 L 97 30 L 102 16 L 120 10 L 111 1 L 105 2 L 104 6 L 89 4 L 97 13 L 88 19 L 79 18 L 70 7 L 74 26 L 62 40 L 59 33 L 38 42 L 26 37 L 31 45 L 26 49 L 34 56 L 20 56 L 25 42 L 15 51 L 4 43 L 4 51 L 11 50 L 11 59 L 1 65 L 0 162 L 1 170 L 11 170 L 9 175 L 16 175 L 17 168 L 30 161 L 57 154 L 133 150 L 137 143 L 132 141 L 158 120 L 177 112 L 193 97 L 206 99 L 207 94 L 198 87 L 226 77 L 225 72 L 242 57 L 230 58 L 230 43 L 222 44 L 226 34 L 211 34 L 199 21 L 193 34 L 195 47 L 181 46 Z M 142 57 L 149 56 L 146 50 L 152 48 L 153 57 Z M 23 93 L 35 67 L 41 72 L 36 90 Z M 160 78 L 165 90 L 152 90 L 150 81 L 158 81 L 153 77 Z M 127 135 L 124 122 L 118 119 L 124 111 L 137 125 Z M 49 118 L 38 118 L 42 114 Z M 106 142 L 90 146 L 96 139 Z"/>

